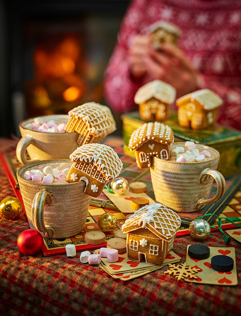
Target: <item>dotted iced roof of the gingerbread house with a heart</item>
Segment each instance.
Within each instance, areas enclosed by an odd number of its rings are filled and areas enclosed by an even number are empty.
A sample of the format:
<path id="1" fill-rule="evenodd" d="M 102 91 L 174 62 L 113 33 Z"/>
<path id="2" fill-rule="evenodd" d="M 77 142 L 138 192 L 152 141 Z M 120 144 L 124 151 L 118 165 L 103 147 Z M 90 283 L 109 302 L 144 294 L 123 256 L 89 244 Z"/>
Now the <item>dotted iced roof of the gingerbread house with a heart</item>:
<path id="1" fill-rule="evenodd" d="M 131 134 L 128 147 L 130 150 L 136 149 L 148 140 L 171 145 L 174 142 L 173 131 L 168 125 L 163 123 L 144 123 Z"/>

